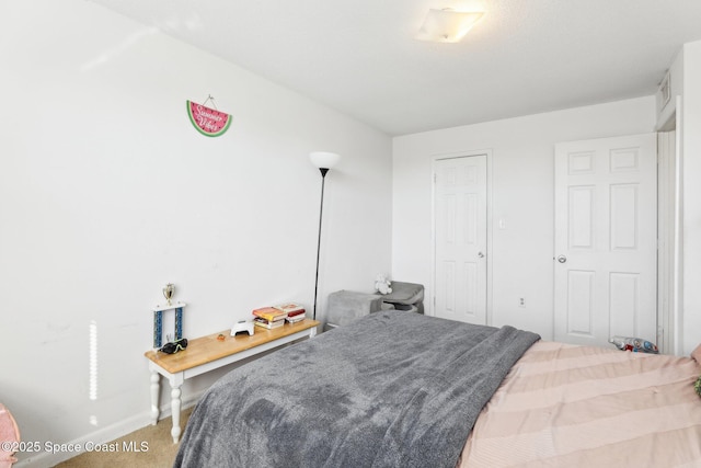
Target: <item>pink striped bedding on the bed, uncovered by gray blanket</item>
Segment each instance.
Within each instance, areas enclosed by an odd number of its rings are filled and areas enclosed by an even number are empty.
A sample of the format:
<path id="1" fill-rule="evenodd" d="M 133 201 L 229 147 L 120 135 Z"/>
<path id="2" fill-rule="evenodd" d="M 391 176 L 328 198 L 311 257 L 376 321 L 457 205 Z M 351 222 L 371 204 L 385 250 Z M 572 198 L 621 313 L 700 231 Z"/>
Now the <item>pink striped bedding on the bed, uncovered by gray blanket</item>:
<path id="1" fill-rule="evenodd" d="M 483 408 L 473 467 L 701 467 L 701 366 L 689 357 L 533 344 Z"/>

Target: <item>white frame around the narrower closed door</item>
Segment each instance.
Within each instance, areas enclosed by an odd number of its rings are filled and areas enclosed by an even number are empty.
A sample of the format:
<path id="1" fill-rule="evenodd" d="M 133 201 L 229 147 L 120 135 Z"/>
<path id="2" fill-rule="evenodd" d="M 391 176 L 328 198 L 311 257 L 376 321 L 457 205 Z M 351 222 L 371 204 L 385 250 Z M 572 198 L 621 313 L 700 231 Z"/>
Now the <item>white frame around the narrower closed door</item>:
<path id="1" fill-rule="evenodd" d="M 435 317 L 436 310 L 436 165 L 444 159 L 484 156 L 486 159 L 486 324 L 492 324 L 492 149 L 441 152 L 430 156 L 430 292 L 425 307 L 426 315 Z"/>

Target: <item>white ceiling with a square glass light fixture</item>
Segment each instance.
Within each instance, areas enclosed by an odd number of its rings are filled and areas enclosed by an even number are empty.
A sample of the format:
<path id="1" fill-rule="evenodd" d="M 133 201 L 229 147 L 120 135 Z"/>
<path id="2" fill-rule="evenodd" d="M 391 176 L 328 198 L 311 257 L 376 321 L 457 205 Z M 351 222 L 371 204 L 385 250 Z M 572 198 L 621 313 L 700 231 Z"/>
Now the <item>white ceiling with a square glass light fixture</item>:
<path id="1" fill-rule="evenodd" d="M 651 95 L 701 39 L 699 0 L 483 0 L 459 44 L 414 36 L 467 1 L 90 1 L 388 135 Z"/>

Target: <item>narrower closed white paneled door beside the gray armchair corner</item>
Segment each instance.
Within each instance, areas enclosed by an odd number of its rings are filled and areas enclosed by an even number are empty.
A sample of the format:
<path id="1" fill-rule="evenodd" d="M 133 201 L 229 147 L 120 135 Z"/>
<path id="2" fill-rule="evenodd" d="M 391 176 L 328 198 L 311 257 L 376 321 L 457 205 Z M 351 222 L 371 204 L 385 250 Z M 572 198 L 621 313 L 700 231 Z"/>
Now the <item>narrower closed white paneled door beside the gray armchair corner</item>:
<path id="1" fill-rule="evenodd" d="M 434 165 L 434 315 L 486 323 L 486 155 Z"/>

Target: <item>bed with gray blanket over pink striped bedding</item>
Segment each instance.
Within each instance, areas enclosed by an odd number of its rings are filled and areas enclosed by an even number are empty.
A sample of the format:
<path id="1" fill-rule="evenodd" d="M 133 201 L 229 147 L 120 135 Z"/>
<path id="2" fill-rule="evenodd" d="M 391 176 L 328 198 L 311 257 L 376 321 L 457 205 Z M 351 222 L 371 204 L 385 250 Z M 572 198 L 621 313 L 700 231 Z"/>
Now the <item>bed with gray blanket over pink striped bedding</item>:
<path id="1" fill-rule="evenodd" d="M 701 466 L 699 364 L 382 311 L 218 380 L 175 467 Z"/>

